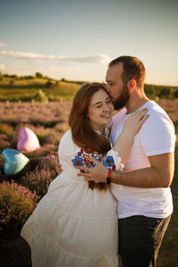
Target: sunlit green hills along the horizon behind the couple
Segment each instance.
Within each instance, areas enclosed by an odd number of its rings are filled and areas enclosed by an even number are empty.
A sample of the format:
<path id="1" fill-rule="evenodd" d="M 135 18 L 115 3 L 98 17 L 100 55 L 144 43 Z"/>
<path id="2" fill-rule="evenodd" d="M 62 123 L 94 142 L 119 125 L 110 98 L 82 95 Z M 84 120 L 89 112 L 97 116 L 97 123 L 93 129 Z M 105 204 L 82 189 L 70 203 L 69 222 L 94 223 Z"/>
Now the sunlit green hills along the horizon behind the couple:
<path id="1" fill-rule="evenodd" d="M 36 73 L 36 77 L 0 73 L 0 101 L 69 101 L 85 82 L 55 80 Z M 150 99 L 176 99 L 178 86 L 145 85 Z"/>

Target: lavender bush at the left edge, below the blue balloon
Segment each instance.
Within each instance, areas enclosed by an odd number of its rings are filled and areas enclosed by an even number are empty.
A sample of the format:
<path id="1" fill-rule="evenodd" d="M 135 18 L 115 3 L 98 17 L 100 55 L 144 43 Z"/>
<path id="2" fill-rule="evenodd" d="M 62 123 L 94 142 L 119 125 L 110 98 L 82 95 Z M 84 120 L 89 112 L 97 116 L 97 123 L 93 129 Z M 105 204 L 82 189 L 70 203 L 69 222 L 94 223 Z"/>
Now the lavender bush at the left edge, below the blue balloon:
<path id="1" fill-rule="evenodd" d="M 16 182 L 0 183 L 0 223 L 17 230 L 33 212 L 39 199 L 36 193 Z"/>

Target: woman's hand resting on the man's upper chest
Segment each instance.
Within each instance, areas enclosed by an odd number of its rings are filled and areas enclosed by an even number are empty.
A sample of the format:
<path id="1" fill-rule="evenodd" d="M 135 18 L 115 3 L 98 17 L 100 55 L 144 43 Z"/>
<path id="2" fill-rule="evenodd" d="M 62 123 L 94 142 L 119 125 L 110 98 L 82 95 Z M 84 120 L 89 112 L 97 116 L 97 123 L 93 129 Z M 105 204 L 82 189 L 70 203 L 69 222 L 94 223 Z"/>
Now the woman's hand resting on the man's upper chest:
<path id="1" fill-rule="evenodd" d="M 125 124 L 123 126 L 123 131 L 122 134 L 129 134 L 134 136 L 135 134 L 137 134 L 142 125 L 144 124 L 144 122 L 148 119 L 149 114 L 147 114 L 145 116 L 145 114 L 148 112 L 148 109 L 141 109 L 138 110 L 136 112 L 134 112 L 134 114 L 131 114 L 126 120 L 125 120 Z"/>

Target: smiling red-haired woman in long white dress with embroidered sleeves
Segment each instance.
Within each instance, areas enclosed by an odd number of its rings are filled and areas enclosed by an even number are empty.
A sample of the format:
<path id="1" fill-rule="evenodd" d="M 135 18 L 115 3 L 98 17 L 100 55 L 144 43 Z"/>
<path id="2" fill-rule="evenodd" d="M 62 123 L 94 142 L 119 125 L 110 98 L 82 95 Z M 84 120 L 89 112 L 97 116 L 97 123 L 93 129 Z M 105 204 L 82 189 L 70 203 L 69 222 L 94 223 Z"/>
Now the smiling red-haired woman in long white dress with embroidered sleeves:
<path id="1" fill-rule="evenodd" d="M 84 85 L 77 92 L 69 115 L 70 130 L 59 147 L 63 172 L 50 184 L 21 231 L 31 247 L 33 267 L 118 266 L 117 201 L 109 184 L 85 182 L 77 176 L 75 166 L 92 167 L 88 155 L 93 155 L 110 170 L 121 169 L 121 158 L 127 158 L 134 134 L 147 118 L 145 113 L 142 110 L 129 117 L 111 150 L 107 125 L 113 104 L 109 93 L 100 84 Z"/>

